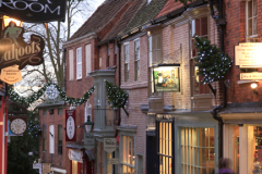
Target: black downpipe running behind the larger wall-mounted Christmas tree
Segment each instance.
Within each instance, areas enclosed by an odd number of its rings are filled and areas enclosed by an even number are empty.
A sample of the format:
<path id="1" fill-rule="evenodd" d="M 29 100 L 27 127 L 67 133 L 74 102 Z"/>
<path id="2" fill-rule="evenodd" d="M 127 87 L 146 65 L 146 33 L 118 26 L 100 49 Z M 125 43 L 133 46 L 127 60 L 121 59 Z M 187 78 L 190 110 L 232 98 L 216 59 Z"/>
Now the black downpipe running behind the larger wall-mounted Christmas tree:
<path id="1" fill-rule="evenodd" d="M 218 18 L 223 18 L 223 0 L 219 0 L 219 15 L 214 15 L 213 10 L 213 0 L 210 1 L 211 15 L 216 21 Z M 221 51 L 224 52 L 224 28 L 222 24 L 217 24 L 219 27 L 219 40 L 221 40 Z M 213 119 L 218 121 L 218 159 L 223 158 L 223 119 L 217 114 L 222 109 L 227 107 L 227 95 L 226 95 L 226 86 L 223 83 L 223 102 L 221 105 L 213 108 L 212 115 Z"/>

